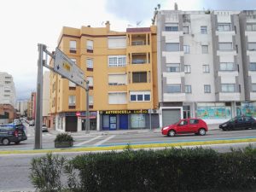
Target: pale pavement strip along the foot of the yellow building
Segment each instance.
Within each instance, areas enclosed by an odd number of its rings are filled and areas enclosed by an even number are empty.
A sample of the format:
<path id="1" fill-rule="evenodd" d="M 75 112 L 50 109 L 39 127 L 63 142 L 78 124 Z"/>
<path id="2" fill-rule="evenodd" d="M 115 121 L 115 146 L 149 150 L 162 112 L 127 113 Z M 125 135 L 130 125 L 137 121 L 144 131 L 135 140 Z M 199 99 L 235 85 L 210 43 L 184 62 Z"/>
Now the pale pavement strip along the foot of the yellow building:
<path id="1" fill-rule="evenodd" d="M 208 125 L 209 131 L 218 130 L 218 124 Z M 113 130 L 113 131 L 89 131 L 88 136 L 103 136 L 103 135 L 125 135 L 125 134 L 139 134 L 139 133 L 156 133 L 161 134 L 161 128 L 149 129 L 136 129 L 136 130 Z M 57 135 L 59 131 L 49 129 L 49 133 Z M 72 136 L 86 135 L 85 131 L 69 132 Z"/>

